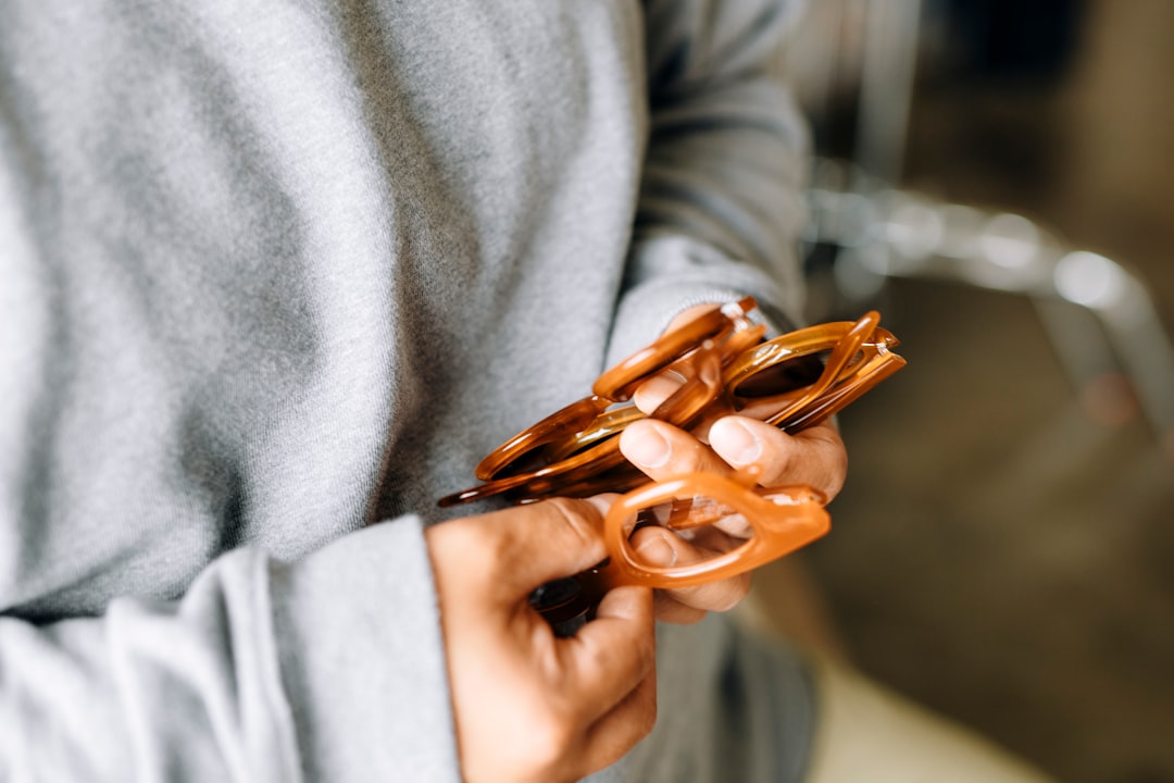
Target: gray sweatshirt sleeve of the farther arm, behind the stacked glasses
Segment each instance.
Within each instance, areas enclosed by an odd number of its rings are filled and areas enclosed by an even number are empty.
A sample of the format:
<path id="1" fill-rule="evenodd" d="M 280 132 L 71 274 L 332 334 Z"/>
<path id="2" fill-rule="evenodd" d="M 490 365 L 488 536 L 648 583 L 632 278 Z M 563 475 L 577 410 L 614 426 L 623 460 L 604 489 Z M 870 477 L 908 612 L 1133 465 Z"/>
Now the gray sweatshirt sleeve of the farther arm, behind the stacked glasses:
<path id="1" fill-rule="evenodd" d="M 791 0 L 647 0 L 650 136 L 610 358 L 687 306 L 797 323 L 807 128 L 780 68 Z"/>

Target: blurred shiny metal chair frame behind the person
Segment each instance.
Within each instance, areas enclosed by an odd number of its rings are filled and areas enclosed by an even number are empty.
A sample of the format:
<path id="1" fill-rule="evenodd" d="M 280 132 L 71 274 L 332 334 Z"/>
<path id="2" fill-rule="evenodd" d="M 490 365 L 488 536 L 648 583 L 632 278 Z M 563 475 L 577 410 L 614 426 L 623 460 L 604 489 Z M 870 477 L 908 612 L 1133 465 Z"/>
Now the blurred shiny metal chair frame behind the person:
<path id="1" fill-rule="evenodd" d="M 856 90 L 851 153 L 816 158 L 805 237 L 809 249 L 832 249 L 824 263 L 842 306 L 858 309 L 900 277 L 1028 297 L 1085 407 L 1113 419 L 1135 401 L 1174 459 L 1174 344 L 1141 276 L 1023 215 L 900 189 L 923 4 L 839 0 L 819 9 L 823 35 L 811 40 L 825 48 L 809 52 L 805 70 L 819 76 L 814 88 L 809 79 L 807 102 L 818 113 L 845 67 L 858 69 L 846 74 Z M 857 50 L 845 56 L 837 50 L 845 46 Z"/>

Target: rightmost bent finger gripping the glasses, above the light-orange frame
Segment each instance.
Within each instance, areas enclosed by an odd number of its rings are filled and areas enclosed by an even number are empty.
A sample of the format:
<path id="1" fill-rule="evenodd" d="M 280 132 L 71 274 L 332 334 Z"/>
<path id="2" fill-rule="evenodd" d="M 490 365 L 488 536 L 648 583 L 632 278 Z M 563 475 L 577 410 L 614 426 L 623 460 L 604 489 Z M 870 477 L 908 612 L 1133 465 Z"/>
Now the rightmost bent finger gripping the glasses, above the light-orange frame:
<path id="1" fill-rule="evenodd" d="M 831 499 L 848 474 L 844 441 L 828 421 L 788 434 L 757 419 L 727 416 L 709 428 L 709 445 L 734 467 L 756 465 L 763 486 L 807 484 Z"/>

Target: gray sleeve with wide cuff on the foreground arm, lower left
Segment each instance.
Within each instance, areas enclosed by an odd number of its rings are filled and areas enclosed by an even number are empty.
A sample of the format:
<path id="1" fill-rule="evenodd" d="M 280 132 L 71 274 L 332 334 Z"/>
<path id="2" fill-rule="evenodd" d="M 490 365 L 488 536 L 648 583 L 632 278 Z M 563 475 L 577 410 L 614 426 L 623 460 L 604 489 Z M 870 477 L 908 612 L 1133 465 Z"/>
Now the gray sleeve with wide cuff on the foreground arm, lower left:
<path id="1" fill-rule="evenodd" d="M 0 617 L 0 779 L 459 779 L 427 563 L 403 518 L 235 551 L 176 602 Z"/>

